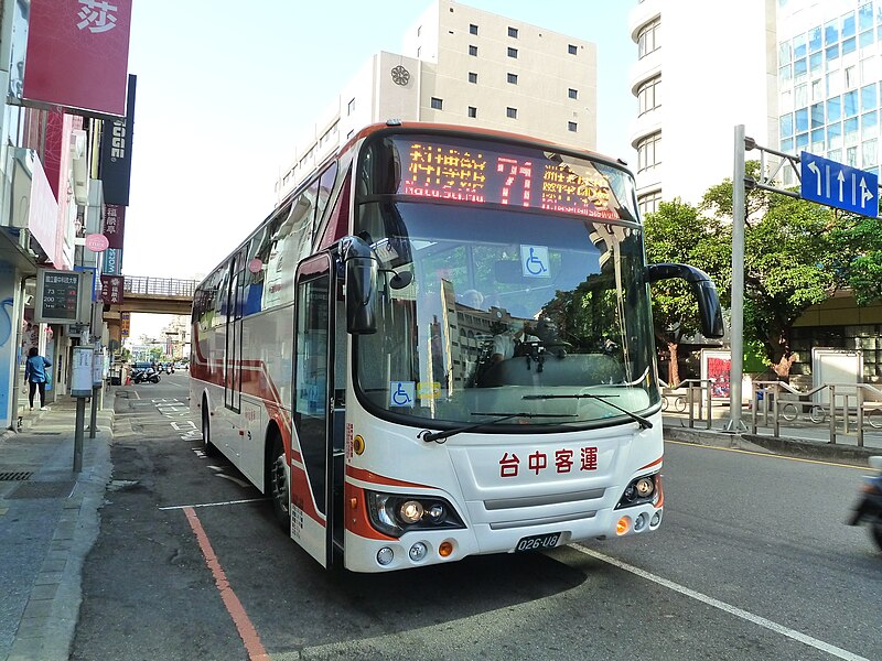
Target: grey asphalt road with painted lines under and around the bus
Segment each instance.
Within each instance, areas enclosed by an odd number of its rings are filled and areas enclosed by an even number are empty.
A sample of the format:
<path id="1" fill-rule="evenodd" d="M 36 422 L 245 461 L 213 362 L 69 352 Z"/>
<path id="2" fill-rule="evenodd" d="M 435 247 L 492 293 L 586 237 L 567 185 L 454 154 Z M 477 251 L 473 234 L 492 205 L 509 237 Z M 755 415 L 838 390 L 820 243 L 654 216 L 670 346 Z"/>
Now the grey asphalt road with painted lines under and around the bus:
<path id="1" fill-rule="evenodd" d="M 198 452 L 186 373 L 120 392 L 72 659 L 882 659 L 860 469 L 668 443 L 653 535 L 329 573 Z"/>

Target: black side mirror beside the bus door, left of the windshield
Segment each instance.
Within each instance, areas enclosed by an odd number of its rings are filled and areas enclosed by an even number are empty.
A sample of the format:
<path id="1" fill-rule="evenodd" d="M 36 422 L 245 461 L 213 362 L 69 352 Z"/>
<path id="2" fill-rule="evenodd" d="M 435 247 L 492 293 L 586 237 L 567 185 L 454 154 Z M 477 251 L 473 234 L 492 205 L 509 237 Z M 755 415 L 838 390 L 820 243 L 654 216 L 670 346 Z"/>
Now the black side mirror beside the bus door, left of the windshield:
<path id="1" fill-rule="evenodd" d="M 379 266 L 370 246 L 359 237 L 341 241 L 346 272 L 346 332 L 372 335 L 377 332 L 377 273 Z"/>

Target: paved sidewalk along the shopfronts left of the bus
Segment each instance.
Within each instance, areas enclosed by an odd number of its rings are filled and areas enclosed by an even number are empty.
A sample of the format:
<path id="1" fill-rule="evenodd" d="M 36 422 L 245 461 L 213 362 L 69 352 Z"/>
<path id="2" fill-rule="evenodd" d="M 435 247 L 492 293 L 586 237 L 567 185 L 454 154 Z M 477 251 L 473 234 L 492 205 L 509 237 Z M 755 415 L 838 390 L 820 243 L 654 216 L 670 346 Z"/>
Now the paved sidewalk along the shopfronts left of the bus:
<path id="1" fill-rule="evenodd" d="M 66 660 L 80 574 L 98 535 L 110 479 L 116 388 L 104 389 L 95 438 L 86 402 L 82 470 L 75 474 L 76 400 L 25 412 L 0 436 L 0 660 Z"/>

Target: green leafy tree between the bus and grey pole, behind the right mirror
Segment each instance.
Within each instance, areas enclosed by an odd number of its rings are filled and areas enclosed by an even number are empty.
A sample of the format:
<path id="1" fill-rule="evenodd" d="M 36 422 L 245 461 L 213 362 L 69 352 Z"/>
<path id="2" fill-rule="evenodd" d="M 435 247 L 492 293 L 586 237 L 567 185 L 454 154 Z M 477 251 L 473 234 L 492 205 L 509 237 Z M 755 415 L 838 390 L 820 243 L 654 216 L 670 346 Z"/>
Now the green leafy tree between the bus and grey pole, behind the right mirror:
<path id="1" fill-rule="evenodd" d="M 731 227 L 731 226 L 730 226 Z M 679 198 L 662 203 L 658 212 L 644 221 L 646 257 L 649 263 L 681 262 L 712 271 L 718 291 L 728 302 L 731 271 L 731 234 L 713 216 Z M 663 280 L 653 284 L 653 328 L 657 342 L 670 358 L 668 382 L 680 382 L 679 347 L 684 338 L 699 334 L 698 304 L 682 280 Z"/>

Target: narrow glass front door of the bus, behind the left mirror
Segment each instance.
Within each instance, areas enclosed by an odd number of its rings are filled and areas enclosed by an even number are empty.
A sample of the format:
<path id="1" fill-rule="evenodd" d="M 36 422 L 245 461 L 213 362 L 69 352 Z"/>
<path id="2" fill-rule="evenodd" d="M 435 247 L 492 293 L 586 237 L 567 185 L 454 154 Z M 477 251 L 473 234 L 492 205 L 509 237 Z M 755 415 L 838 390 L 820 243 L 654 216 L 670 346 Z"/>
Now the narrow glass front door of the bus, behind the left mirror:
<path id="1" fill-rule="evenodd" d="M 335 289 L 334 271 L 327 254 L 308 259 L 298 267 L 292 410 L 308 479 L 298 479 L 292 466 L 291 534 L 324 566 L 333 562 L 334 530 L 338 528 L 334 502 L 342 498 L 335 497 L 335 485 L 342 488 L 343 484 L 342 443 L 338 452 L 334 447 L 334 420 L 340 418 L 334 413 L 333 398 Z M 313 503 L 320 521 L 310 517 Z"/>

